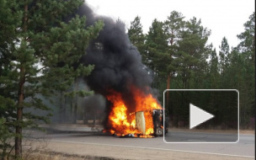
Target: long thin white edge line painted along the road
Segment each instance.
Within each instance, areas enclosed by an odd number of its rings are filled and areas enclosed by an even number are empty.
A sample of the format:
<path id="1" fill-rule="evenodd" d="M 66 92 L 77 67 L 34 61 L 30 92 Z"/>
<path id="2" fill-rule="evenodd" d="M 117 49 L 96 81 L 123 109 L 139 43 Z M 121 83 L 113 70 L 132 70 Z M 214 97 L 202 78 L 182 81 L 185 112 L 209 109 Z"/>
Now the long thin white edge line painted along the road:
<path id="1" fill-rule="evenodd" d="M 134 146 L 110 145 L 110 144 L 101 144 L 101 143 L 88 143 L 88 142 L 80 142 L 80 141 L 59 141 L 59 140 L 51 140 L 51 141 L 65 142 L 65 143 L 77 143 L 77 144 L 88 144 L 88 145 L 99 145 L 99 146 L 109 146 L 109 147 L 131 147 L 131 148 L 152 149 L 152 150 L 173 151 L 173 152 L 189 152 L 189 153 L 211 154 L 211 155 L 218 155 L 218 156 L 255 158 L 253 156 L 222 154 L 222 153 L 214 153 L 214 152 L 195 152 L 195 151 L 184 151 L 184 150 L 174 150 L 174 149 L 154 148 L 154 147 L 134 147 Z"/>

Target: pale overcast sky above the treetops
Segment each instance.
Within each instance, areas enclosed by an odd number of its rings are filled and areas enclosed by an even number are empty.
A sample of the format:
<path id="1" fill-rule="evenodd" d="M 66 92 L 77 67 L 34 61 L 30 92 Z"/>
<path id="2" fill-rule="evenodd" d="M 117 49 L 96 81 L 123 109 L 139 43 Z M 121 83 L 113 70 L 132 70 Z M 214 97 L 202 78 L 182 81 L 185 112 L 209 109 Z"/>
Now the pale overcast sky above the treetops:
<path id="1" fill-rule="evenodd" d="M 147 33 L 153 19 L 164 21 L 176 10 L 183 13 L 185 20 L 193 17 L 201 19 L 207 29 L 211 29 L 208 44 L 216 51 L 224 36 L 232 46 L 239 43 L 237 35 L 244 30 L 243 24 L 255 11 L 254 0 L 85 0 L 94 12 L 113 19 L 120 18 L 126 28 L 136 15 L 141 17 L 143 32 Z"/>

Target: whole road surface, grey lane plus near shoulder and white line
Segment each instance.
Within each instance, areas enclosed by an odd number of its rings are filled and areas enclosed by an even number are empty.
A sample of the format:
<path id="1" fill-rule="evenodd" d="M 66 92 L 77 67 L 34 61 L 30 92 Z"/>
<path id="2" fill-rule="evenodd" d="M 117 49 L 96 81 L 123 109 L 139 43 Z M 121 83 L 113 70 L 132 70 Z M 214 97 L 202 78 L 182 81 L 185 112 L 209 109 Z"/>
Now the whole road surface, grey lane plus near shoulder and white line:
<path id="1" fill-rule="evenodd" d="M 173 133 L 168 133 L 167 136 L 172 136 L 172 134 Z M 142 152 L 145 152 L 145 155 L 147 154 L 148 157 L 146 159 L 154 159 L 156 157 L 153 156 L 157 155 L 163 156 L 161 157 L 163 159 L 168 159 L 169 156 L 175 157 L 175 155 L 177 158 L 173 159 L 205 159 L 206 157 L 210 159 L 254 159 L 255 157 L 254 135 L 243 134 L 240 134 L 240 141 L 234 144 L 167 144 L 163 141 L 163 137 L 120 138 L 101 132 L 51 133 L 46 134 L 44 138 L 51 142 L 51 145 L 53 145 L 51 147 L 56 149 L 56 152 L 65 150 L 65 152 L 72 154 L 86 153 L 91 154 L 91 156 L 94 154 L 93 152 L 96 152 L 95 154 L 98 156 L 108 156 L 112 152 L 122 152 L 124 155 L 118 155 L 119 157 L 117 158 L 124 159 L 136 159 L 135 157 L 142 156 Z M 74 149 L 75 147 L 77 147 L 77 149 Z M 84 149 L 79 152 L 79 148 Z M 137 154 L 135 154 L 135 152 L 137 152 Z M 126 156 L 125 153 L 127 154 Z M 164 157 L 164 154 L 168 157 Z M 115 157 L 117 153 L 110 155 L 111 157 Z M 152 157 L 150 157 L 150 155 L 152 155 Z M 195 158 L 192 158 L 191 155 Z"/>

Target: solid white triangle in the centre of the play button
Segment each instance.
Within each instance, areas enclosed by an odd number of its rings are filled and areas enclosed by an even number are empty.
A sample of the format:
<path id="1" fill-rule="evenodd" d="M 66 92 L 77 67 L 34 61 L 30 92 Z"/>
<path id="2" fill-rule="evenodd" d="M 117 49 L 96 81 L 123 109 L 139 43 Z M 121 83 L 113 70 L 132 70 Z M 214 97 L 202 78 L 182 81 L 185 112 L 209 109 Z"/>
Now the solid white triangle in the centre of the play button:
<path id="1" fill-rule="evenodd" d="M 214 115 L 205 112 L 205 110 L 200 109 L 193 104 L 189 104 L 189 129 L 192 129 L 213 117 Z"/>

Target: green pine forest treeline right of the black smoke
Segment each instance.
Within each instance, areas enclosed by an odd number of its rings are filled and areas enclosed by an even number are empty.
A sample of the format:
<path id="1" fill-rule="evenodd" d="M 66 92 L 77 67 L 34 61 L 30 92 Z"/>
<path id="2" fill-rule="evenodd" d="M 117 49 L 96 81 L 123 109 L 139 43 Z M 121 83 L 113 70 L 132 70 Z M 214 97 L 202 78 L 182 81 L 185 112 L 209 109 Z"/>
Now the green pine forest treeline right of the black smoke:
<path id="1" fill-rule="evenodd" d="M 131 43 L 140 51 L 143 63 L 152 72 L 152 88 L 159 90 L 159 101 L 163 102 L 165 89 L 237 89 L 240 128 L 253 128 L 255 13 L 241 24 L 244 31 L 237 33 L 240 43 L 231 48 L 223 35 L 218 52 L 208 41 L 211 30 L 203 26 L 200 19 L 184 18 L 182 13 L 173 11 L 165 21 L 154 19 L 147 34 L 143 34 L 141 18 L 136 16 L 128 29 Z M 169 94 L 166 93 L 165 106 L 172 115 L 171 106 L 179 104 L 172 104 Z M 229 99 L 228 95 L 224 97 Z M 230 116 L 226 112 L 223 114 Z"/>

